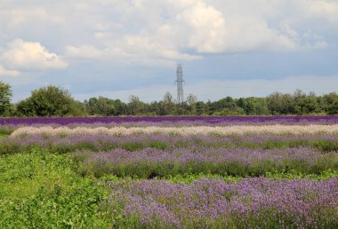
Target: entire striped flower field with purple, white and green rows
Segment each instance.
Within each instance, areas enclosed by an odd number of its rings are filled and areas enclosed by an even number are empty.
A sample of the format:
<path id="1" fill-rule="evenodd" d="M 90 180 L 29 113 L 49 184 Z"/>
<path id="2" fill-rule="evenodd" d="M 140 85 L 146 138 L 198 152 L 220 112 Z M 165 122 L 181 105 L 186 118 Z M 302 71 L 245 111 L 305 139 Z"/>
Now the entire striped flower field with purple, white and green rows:
<path id="1" fill-rule="evenodd" d="M 338 227 L 337 116 L 0 123 L 1 228 Z"/>

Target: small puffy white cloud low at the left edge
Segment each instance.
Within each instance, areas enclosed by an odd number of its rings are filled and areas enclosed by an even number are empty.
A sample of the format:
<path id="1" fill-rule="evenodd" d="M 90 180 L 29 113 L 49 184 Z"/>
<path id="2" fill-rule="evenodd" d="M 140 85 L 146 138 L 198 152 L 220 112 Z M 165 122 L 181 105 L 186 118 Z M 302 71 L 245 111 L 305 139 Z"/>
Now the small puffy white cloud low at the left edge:
<path id="1" fill-rule="evenodd" d="M 21 71 L 65 68 L 68 64 L 41 43 L 15 39 L 7 45 L 1 56 L 4 66 Z"/>

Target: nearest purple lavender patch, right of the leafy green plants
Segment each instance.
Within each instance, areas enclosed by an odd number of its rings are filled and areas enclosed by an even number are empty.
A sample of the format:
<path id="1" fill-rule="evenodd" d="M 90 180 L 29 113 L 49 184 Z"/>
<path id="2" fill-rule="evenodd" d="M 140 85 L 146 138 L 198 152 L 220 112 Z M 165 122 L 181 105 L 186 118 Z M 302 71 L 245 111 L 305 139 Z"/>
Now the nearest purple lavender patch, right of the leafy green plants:
<path id="1" fill-rule="evenodd" d="M 337 228 L 338 179 L 245 178 L 237 184 L 201 179 L 107 184 L 119 227 Z M 121 209 L 122 208 L 122 209 Z"/>

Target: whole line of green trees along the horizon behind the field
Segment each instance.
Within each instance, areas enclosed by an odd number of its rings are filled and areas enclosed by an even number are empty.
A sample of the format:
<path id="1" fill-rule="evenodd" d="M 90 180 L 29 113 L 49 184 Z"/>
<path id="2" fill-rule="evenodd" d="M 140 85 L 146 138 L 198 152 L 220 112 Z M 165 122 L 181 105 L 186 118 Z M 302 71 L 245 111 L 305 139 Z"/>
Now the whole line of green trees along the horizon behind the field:
<path id="1" fill-rule="evenodd" d="M 333 115 L 338 114 L 338 94 L 321 96 L 314 92 L 273 92 L 264 98 L 250 97 L 218 101 L 198 101 L 189 94 L 185 102 L 177 104 L 166 92 L 160 101 L 145 103 L 132 95 L 129 102 L 104 97 L 73 99 L 67 90 L 46 86 L 31 92 L 28 99 L 11 103 L 12 88 L 0 82 L 0 115 L 16 117 L 39 116 L 120 116 L 120 115 Z"/>

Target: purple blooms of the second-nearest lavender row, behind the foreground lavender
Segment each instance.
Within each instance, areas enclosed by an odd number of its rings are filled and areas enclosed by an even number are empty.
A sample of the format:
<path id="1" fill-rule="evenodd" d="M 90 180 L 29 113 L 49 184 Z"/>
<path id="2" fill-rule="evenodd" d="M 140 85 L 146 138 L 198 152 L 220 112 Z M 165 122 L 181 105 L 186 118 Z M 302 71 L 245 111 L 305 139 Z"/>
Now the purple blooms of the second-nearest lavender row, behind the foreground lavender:
<path id="1" fill-rule="evenodd" d="M 332 153 L 332 155 L 338 155 Z M 129 152 L 124 149 L 115 149 L 111 152 L 93 154 L 87 162 L 110 162 L 118 163 L 137 163 L 137 162 L 213 162 L 213 163 L 232 163 L 238 162 L 243 166 L 252 165 L 257 162 L 270 161 L 281 164 L 285 160 L 303 161 L 314 163 L 323 154 L 318 150 L 300 147 L 287 149 L 251 149 L 251 148 L 198 148 L 194 151 L 190 149 L 177 149 L 172 152 L 155 148 L 145 148 L 136 152 Z"/>

